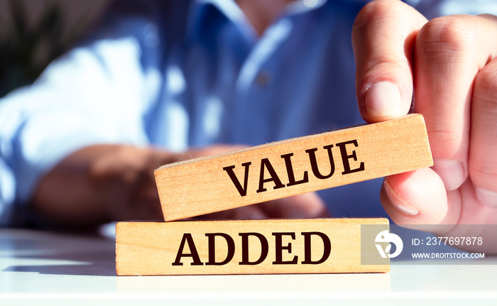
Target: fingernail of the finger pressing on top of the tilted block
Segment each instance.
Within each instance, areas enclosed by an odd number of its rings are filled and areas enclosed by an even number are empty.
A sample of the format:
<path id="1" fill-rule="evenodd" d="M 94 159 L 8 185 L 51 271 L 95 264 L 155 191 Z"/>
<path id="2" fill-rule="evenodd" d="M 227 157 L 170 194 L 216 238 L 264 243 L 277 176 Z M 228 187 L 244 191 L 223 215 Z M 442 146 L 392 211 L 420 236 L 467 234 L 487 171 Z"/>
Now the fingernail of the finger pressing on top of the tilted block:
<path id="1" fill-rule="evenodd" d="M 377 82 L 368 88 L 364 99 L 366 111 L 373 116 L 391 116 L 398 114 L 402 107 L 402 98 L 397 85 L 391 82 Z"/>

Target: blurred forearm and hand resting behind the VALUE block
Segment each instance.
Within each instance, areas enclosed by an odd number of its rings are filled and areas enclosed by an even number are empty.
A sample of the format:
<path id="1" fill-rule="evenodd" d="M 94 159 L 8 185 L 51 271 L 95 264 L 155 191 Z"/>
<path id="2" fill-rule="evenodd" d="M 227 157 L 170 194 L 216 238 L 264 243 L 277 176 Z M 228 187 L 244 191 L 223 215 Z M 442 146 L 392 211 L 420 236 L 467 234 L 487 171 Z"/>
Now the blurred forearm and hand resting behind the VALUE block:
<path id="1" fill-rule="evenodd" d="M 98 145 L 70 154 L 43 177 L 33 195 L 36 211 L 62 226 L 92 226 L 121 220 L 161 220 L 153 170 L 166 163 L 234 151 L 217 145 L 171 153 L 155 148 Z M 231 209 L 199 219 L 324 217 L 315 193 Z"/>

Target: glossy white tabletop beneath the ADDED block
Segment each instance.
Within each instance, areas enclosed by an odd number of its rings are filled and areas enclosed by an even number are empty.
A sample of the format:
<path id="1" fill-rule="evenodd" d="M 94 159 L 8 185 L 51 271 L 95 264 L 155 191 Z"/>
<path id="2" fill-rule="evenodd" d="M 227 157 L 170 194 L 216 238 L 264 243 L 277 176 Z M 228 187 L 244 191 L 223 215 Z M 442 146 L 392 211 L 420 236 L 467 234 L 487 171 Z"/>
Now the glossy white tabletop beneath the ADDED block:
<path id="1" fill-rule="evenodd" d="M 114 246 L 98 236 L 0 229 L 0 305 L 497 305 L 496 257 L 479 265 L 393 264 L 390 273 L 118 277 Z"/>

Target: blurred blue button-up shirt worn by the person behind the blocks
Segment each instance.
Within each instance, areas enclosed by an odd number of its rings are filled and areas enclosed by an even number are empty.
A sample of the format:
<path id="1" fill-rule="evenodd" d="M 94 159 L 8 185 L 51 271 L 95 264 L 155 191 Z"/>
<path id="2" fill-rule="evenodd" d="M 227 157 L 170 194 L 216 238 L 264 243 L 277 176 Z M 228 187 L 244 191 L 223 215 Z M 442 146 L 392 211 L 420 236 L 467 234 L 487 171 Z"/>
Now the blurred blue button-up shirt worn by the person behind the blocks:
<path id="1" fill-rule="evenodd" d="M 363 123 L 350 37 L 366 2 L 295 1 L 261 38 L 231 0 L 121 2 L 0 101 L 0 226 L 23 224 L 40 177 L 84 146 L 252 146 Z M 497 11 L 494 1 L 408 2 L 428 18 Z M 335 217 L 385 217 L 380 186 L 320 195 Z"/>

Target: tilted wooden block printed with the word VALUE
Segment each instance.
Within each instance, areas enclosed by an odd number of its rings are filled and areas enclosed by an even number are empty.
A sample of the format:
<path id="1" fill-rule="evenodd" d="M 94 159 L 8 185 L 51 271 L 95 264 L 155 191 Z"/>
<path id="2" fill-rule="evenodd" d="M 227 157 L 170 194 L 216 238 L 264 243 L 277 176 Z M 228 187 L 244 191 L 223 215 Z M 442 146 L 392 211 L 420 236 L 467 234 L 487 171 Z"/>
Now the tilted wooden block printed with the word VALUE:
<path id="1" fill-rule="evenodd" d="M 419 114 L 155 170 L 166 221 L 275 200 L 433 165 Z"/>

